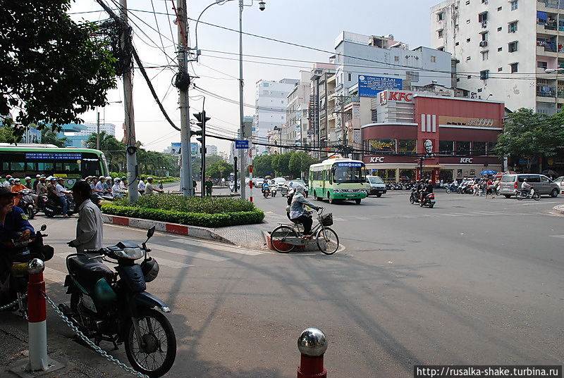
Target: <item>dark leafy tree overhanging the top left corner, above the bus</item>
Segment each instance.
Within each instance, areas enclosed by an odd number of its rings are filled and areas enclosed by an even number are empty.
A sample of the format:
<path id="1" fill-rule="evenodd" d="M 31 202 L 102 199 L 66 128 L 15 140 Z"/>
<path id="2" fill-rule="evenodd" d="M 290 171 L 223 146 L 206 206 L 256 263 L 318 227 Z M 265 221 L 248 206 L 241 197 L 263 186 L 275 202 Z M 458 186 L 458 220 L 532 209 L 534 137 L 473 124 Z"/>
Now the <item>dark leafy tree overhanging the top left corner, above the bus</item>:
<path id="1" fill-rule="evenodd" d="M 2 1 L 0 115 L 16 141 L 34 122 L 42 129 L 80 123 L 78 115 L 104 106 L 116 87 L 114 62 L 94 24 L 68 16 L 71 0 Z"/>

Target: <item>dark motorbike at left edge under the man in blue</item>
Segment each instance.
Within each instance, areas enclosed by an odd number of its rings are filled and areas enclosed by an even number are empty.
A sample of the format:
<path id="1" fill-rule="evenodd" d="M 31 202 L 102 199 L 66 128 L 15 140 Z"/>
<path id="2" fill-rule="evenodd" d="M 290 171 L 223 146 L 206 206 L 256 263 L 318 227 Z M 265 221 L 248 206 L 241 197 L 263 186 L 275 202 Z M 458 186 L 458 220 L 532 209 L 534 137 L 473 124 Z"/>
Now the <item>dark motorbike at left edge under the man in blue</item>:
<path id="1" fill-rule="evenodd" d="M 13 310 L 23 317 L 27 315 L 27 300 L 24 298 L 29 281 L 27 263 L 34 258 L 45 262 L 51 260 L 54 254 L 53 247 L 43 244 L 43 238 L 48 236 L 42 234 L 45 229 L 47 226 L 42 225 L 32 239 L 20 241 L 18 238 L 21 233 L 18 233 L 12 241 L 2 244 L 4 254 L 0 258 L 0 306 L 18 299 Z"/>

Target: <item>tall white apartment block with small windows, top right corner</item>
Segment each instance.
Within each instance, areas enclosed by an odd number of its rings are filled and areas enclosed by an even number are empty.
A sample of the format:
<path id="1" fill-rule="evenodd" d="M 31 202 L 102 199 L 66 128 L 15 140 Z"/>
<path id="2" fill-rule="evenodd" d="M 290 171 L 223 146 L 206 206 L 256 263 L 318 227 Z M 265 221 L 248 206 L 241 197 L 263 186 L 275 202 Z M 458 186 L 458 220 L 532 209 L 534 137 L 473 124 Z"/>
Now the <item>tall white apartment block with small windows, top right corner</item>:
<path id="1" fill-rule="evenodd" d="M 458 59 L 457 85 L 472 97 L 553 114 L 564 75 L 544 70 L 564 67 L 563 9 L 561 0 L 443 1 L 431 8 L 431 46 Z"/>

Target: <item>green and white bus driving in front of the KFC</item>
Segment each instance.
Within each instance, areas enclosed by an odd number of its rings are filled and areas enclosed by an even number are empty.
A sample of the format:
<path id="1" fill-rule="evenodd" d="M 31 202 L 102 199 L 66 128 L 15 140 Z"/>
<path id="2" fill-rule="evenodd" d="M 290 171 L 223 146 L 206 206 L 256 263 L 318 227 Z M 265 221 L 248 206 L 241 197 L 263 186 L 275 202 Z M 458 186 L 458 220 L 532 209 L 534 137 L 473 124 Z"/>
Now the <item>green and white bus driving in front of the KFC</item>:
<path id="1" fill-rule="evenodd" d="M 314 199 L 355 201 L 367 196 L 366 168 L 360 160 L 330 158 L 309 166 L 309 193 Z"/>

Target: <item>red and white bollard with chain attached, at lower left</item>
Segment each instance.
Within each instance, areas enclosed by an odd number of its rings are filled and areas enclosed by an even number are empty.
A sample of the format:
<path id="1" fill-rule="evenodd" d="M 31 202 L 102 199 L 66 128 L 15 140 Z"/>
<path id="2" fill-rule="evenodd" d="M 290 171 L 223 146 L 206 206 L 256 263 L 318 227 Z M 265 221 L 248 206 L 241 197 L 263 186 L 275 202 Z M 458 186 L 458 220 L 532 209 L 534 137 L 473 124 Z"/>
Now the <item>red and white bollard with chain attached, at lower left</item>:
<path id="1" fill-rule="evenodd" d="M 47 357 L 47 309 L 45 305 L 45 281 L 42 260 L 34 258 L 27 263 L 27 329 L 30 333 L 30 358 L 25 370 L 45 371 L 49 367 Z"/>

